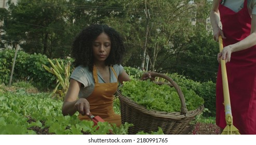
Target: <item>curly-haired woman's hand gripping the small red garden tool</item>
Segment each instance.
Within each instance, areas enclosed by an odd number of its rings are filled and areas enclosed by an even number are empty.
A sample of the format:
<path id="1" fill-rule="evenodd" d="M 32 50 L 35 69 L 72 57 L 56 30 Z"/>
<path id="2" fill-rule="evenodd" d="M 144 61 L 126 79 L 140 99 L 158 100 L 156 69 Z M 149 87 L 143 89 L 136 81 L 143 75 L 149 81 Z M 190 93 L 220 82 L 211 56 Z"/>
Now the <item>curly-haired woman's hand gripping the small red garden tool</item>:
<path id="1" fill-rule="evenodd" d="M 90 104 L 85 98 L 79 98 L 75 103 L 75 108 L 82 115 L 89 115 L 90 113 Z"/>

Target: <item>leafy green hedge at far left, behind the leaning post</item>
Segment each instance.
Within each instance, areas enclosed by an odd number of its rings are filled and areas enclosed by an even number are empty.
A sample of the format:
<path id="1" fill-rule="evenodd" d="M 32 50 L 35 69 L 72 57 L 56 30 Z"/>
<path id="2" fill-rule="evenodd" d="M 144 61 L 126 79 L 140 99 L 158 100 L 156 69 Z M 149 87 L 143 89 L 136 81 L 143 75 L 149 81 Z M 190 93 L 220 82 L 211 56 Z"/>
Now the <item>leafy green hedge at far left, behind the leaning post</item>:
<path id="1" fill-rule="evenodd" d="M 6 49 L 0 51 L 0 82 L 7 84 L 10 79 L 12 61 L 15 50 Z M 57 59 L 61 60 L 61 59 Z M 72 59 L 62 60 L 64 64 L 73 62 Z M 56 87 L 57 78 L 43 68 L 43 64 L 50 66 L 47 57 L 42 54 L 28 54 L 18 51 L 14 76 L 12 80 L 29 81 L 40 90 L 52 90 Z M 70 71 L 73 67 L 71 66 Z"/>

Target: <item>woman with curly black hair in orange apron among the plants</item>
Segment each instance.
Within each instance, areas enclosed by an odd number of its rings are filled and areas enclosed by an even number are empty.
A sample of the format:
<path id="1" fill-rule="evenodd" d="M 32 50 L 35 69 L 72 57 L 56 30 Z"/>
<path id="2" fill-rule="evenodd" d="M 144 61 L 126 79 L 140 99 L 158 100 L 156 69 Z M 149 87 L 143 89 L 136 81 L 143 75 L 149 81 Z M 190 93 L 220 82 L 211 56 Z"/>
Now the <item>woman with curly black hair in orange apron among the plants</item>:
<path id="1" fill-rule="evenodd" d="M 114 113 L 113 99 L 118 82 L 130 80 L 120 65 L 124 53 L 122 38 L 107 25 L 93 24 L 78 34 L 72 46 L 76 68 L 70 77 L 63 115 L 78 111 L 79 120 L 90 120 L 93 114 L 117 126 L 121 124 L 120 115 Z M 151 76 L 145 73 L 143 77 Z"/>

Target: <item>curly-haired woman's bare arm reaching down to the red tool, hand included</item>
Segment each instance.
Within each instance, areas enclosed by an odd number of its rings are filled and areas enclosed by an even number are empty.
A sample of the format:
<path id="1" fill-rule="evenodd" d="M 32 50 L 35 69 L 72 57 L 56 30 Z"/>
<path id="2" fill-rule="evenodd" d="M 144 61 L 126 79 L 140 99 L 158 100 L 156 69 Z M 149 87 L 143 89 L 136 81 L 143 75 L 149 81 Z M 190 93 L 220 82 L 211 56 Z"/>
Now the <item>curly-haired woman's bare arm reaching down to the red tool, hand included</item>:
<path id="1" fill-rule="evenodd" d="M 90 112 L 90 106 L 85 98 L 79 98 L 77 99 L 79 90 L 80 90 L 81 83 L 71 79 L 69 90 L 66 93 L 64 103 L 62 106 L 62 114 L 63 115 L 73 115 L 76 111 L 84 114 L 89 114 Z"/>

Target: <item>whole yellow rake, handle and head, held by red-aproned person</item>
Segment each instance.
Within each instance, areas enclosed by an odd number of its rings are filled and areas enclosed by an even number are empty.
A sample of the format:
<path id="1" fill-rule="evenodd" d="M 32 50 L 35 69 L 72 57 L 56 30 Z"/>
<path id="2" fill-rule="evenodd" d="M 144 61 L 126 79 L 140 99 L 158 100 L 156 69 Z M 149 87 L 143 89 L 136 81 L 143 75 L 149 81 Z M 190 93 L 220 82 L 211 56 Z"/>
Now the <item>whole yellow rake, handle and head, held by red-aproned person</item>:
<path id="1" fill-rule="evenodd" d="M 219 36 L 219 46 L 220 52 L 223 50 L 222 37 Z M 224 128 L 222 135 L 240 135 L 239 130 L 233 125 L 233 117 L 231 112 L 230 103 L 230 92 L 228 90 L 227 82 L 227 72 L 225 60 L 220 60 L 221 62 L 221 75 L 222 75 L 222 85 L 223 85 L 223 95 L 224 95 L 224 106 L 225 106 L 225 119 L 226 127 Z"/>

